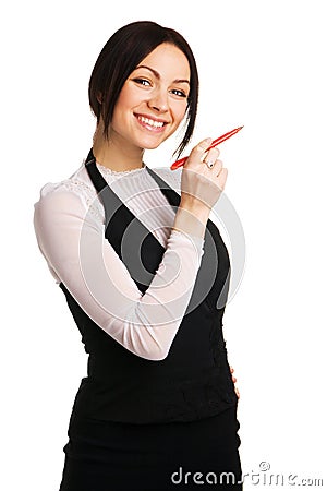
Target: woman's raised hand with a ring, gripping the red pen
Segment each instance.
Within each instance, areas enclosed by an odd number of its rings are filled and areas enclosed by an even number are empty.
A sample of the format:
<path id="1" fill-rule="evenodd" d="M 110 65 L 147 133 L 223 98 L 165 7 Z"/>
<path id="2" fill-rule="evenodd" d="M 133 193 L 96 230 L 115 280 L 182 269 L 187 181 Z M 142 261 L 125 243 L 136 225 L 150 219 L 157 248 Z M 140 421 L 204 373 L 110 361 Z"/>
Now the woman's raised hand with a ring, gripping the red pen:
<path id="1" fill-rule="evenodd" d="M 217 147 L 206 152 L 210 143 L 211 139 L 199 142 L 183 166 L 181 206 L 184 208 L 209 213 L 225 189 L 228 171 L 218 159 Z"/>

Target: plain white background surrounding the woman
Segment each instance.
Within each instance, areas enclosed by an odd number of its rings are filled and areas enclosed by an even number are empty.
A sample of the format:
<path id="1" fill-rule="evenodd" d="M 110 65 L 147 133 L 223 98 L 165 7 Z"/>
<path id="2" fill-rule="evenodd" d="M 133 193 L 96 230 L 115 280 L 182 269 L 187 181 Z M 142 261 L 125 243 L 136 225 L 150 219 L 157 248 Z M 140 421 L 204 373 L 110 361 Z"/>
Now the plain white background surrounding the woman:
<path id="1" fill-rule="evenodd" d="M 324 3 L 57 0 L 13 1 L 2 11 L 3 491 L 59 489 L 87 358 L 37 249 L 33 207 L 46 182 L 69 177 L 86 157 L 90 71 L 109 36 L 136 20 L 180 31 L 194 50 L 201 105 L 192 143 L 244 124 L 220 146 L 226 194 L 246 239 L 244 278 L 225 316 L 244 474 L 263 478 L 259 464 L 268 462 L 270 474 L 326 486 Z M 169 166 L 170 147 L 147 164 Z M 257 477 L 245 482 L 265 489 Z"/>

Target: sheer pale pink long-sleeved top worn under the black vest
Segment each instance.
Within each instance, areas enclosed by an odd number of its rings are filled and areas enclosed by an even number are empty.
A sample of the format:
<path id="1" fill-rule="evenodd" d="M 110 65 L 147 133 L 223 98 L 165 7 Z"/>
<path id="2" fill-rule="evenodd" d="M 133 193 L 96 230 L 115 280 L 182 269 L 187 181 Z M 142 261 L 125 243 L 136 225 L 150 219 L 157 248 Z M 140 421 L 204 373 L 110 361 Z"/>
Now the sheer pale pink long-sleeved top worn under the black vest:
<path id="1" fill-rule="evenodd" d="M 171 228 L 175 208 L 145 166 L 123 172 L 97 167 L 165 248 L 145 294 L 105 238 L 105 209 L 84 161 L 69 179 L 41 188 L 34 214 L 39 249 L 55 280 L 100 328 L 142 358 L 165 359 L 191 299 L 204 239 Z M 180 193 L 182 169 L 154 170 Z M 133 240 L 132 229 L 124 240 Z"/>

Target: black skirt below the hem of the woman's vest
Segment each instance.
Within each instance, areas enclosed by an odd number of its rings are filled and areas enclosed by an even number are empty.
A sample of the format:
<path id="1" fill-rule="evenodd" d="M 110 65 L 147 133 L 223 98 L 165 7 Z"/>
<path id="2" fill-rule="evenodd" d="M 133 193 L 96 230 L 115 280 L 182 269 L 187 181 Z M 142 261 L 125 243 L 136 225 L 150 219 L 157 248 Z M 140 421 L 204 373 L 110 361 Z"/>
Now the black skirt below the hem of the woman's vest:
<path id="1" fill-rule="evenodd" d="M 235 406 L 143 426 L 73 417 L 60 491 L 241 490 L 238 430 Z"/>

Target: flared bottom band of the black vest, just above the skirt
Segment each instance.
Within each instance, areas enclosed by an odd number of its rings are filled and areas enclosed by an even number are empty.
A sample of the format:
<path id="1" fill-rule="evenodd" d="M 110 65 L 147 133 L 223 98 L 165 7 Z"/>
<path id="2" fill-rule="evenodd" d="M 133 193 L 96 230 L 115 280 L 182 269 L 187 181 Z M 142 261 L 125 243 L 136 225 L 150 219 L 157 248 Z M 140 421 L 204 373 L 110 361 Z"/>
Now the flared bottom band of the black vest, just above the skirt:
<path id="1" fill-rule="evenodd" d="M 230 371 L 215 367 L 178 380 L 84 378 L 74 407 L 84 416 L 146 423 L 195 420 L 235 404 Z"/>

